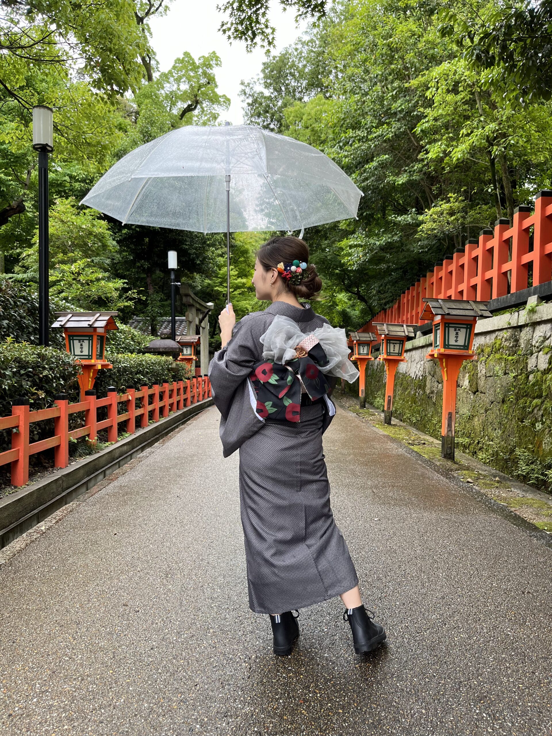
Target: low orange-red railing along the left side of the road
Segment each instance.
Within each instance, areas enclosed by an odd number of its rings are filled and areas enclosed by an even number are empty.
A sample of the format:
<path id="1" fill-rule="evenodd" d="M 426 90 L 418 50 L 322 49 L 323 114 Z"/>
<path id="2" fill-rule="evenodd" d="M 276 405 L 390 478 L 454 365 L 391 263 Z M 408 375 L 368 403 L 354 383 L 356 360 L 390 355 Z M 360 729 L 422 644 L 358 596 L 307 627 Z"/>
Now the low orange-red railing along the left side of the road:
<path id="1" fill-rule="evenodd" d="M 107 389 L 107 397 L 96 398 L 95 391 L 87 391 L 85 400 L 70 404 L 67 394 L 58 394 L 55 406 L 38 411 L 29 410 L 29 399 L 16 399 L 12 405 L 11 417 L 0 417 L 0 430 L 12 430 L 12 449 L 0 453 L 0 465 L 12 464 L 11 481 L 14 486 L 24 486 L 29 481 L 29 457 L 54 447 L 54 467 L 67 467 L 69 463 L 69 440 L 88 436 L 96 442 L 98 432 L 107 429 L 107 442 L 117 442 L 118 425 L 126 422 L 126 431 L 133 434 L 138 428 L 147 427 L 151 418 L 158 422 L 160 416 L 168 417 L 172 411 L 197 403 L 210 397 L 210 381 L 208 376 L 192 378 L 191 381 L 174 381 L 155 383 L 150 389 L 141 386 L 139 391 L 127 389 L 125 394 L 118 394 L 117 389 Z M 136 408 L 136 400 L 140 407 Z M 123 414 L 118 414 L 118 405 L 126 404 Z M 107 407 L 107 419 L 99 422 L 97 410 Z M 82 427 L 69 430 L 69 415 L 84 411 Z M 40 442 L 29 442 L 29 428 L 34 422 L 54 420 L 54 435 L 41 439 Z"/>

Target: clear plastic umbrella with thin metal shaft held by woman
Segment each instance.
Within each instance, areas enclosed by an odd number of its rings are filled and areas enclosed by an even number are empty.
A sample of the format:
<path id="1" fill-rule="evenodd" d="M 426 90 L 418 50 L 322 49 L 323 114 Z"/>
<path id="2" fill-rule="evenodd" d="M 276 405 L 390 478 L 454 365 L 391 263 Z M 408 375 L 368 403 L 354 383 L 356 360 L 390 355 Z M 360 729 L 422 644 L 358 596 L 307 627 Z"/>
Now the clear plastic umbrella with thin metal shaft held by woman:
<path id="1" fill-rule="evenodd" d="M 171 130 L 121 158 L 82 199 L 123 224 L 227 233 L 356 217 L 362 192 L 312 146 L 251 125 Z"/>

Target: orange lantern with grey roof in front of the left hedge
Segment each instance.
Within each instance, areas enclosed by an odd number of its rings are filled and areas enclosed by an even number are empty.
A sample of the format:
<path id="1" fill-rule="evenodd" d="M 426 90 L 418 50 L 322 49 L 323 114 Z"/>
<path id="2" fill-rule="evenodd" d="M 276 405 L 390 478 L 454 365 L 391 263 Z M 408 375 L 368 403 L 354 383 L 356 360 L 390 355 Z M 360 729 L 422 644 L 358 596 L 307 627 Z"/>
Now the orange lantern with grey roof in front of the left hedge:
<path id="1" fill-rule="evenodd" d="M 102 368 L 113 368 L 105 360 L 107 330 L 118 330 L 114 316 L 118 312 L 54 312 L 57 316 L 52 328 L 63 328 L 66 350 L 82 365 L 79 375 L 80 400 L 85 391 L 93 389 L 96 375 Z"/>

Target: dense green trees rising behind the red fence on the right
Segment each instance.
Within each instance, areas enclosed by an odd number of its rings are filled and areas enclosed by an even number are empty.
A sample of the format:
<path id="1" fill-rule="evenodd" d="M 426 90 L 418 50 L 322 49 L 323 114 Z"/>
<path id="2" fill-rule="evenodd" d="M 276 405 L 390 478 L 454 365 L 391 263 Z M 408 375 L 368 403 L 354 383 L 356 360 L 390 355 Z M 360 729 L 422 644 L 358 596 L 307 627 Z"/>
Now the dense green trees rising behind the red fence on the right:
<path id="1" fill-rule="evenodd" d="M 358 320 L 339 322 L 347 328 L 550 184 L 551 103 L 512 105 L 503 61 L 489 71 L 457 43 L 465 22 L 507 25 L 512 9 L 453 0 L 450 33 L 438 10 L 420 0 L 339 4 L 242 90 L 247 120 L 322 149 L 364 193 L 358 220 L 305 233 L 328 314 Z"/>

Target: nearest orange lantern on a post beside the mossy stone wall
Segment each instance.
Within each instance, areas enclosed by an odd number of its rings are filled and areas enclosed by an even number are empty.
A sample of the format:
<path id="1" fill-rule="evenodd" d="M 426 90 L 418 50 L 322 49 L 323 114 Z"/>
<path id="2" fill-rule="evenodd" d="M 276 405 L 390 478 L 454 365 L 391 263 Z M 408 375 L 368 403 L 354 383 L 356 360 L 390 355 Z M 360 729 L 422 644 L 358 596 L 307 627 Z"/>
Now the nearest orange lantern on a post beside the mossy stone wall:
<path id="1" fill-rule="evenodd" d="M 433 347 L 425 356 L 436 358 L 443 377 L 441 455 L 454 460 L 456 383 L 462 363 L 473 360 L 473 336 L 478 317 L 490 317 L 488 302 L 423 297 L 420 319 L 433 319 Z"/>

